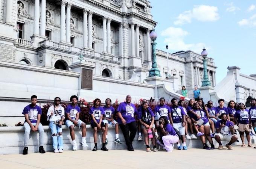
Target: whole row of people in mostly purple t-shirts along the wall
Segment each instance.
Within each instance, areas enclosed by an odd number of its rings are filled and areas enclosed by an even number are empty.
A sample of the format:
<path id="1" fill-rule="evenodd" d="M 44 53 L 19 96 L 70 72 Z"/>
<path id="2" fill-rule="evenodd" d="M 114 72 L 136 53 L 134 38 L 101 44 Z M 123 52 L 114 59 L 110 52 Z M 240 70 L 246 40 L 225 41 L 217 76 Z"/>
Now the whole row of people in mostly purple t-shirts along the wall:
<path id="1" fill-rule="evenodd" d="M 50 122 L 49 127 L 52 133 L 52 143 L 55 153 L 63 152 L 62 139 L 62 124 L 66 124 L 70 130 L 73 150 L 77 150 L 75 140 L 74 127 L 77 126 L 82 130 L 81 146 L 88 147 L 86 143 L 86 125 L 79 119 L 80 107 L 77 105 L 78 97 L 73 95 L 70 97 L 71 104 L 66 109 L 61 106 L 61 99 L 56 97 L 54 104 L 49 107 L 47 120 Z M 43 148 L 43 126 L 40 123 L 42 110 L 36 105 L 37 96 L 31 97 L 31 104 L 23 110 L 25 116 L 24 123 L 24 149 L 23 154 L 28 152 L 28 140 L 30 131 L 37 131 L 40 134 L 39 152 L 45 153 Z M 238 139 L 234 125 L 238 126 L 238 131 L 244 143 L 244 133 L 246 134 L 248 146 L 250 143 L 250 131 L 256 127 L 256 99 L 251 100 L 250 109 L 246 109 L 243 103 L 236 104 L 230 101 L 228 107 L 224 107 L 224 100 L 218 100 L 219 106 L 213 107 L 213 102 L 208 101 L 204 104 L 202 99 L 195 101 L 190 99 L 189 103 L 185 104 L 184 100 L 177 101 L 173 98 L 171 106 L 165 104 L 165 99 L 160 98 L 159 105 L 151 110 L 147 100 L 143 100 L 141 106 L 136 109 L 136 106 L 131 103 L 131 96 L 127 95 L 126 100 L 119 104 L 117 110 L 111 106 L 111 99 L 105 100 L 105 106 L 101 107 L 101 100 L 96 98 L 93 101 L 93 107 L 90 108 L 90 124 L 93 128 L 94 147 L 92 151 L 98 150 L 97 132 L 102 130 L 102 148 L 103 151 L 108 151 L 108 126 L 112 125 L 115 128 L 116 139 L 115 143 L 121 144 L 119 139 L 119 126 L 122 130 L 125 143 L 128 151 L 134 151 L 132 142 L 136 136 L 137 128 L 139 128 L 139 139 L 142 140 L 141 133 L 144 134 L 146 151 L 150 152 L 149 139 L 151 139 L 153 149 L 157 152 L 156 143 L 162 145 L 166 151 L 171 152 L 174 149 L 174 143 L 177 143 L 179 150 L 187 149 L 186 139 L 197 139 L 194 134 L 200 137 L 203 143 L 203 149 L 215 149 L 212 138 L 218 142 L 218 149 L 222 149 L 221 141 L 227 141 L 227 149 L 232 149 L 232 143 Z M 186 108 L 185 108 L 186 106 Z M 114 120 L 114 115 L 117 119 Z M 190 130 L 190 136 L 188 134 Z M 216 131 L 216 132 L 215 132 Z M 206 144 L 206 139 L 210 143 L 210 147 Z M 180 143 L 181 140 L 181 143 Z M 254 147 L 255 148 L 255 147 Z"/>

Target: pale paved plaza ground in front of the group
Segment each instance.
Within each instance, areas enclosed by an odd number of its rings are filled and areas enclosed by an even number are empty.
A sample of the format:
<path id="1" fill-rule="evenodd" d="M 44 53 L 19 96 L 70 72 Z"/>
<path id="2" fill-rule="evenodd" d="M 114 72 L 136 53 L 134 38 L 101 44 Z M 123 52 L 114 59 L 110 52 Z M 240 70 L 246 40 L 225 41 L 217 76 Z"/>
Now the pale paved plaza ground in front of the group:
<path id="1" fill-rule="evenodd" d="M 226 148 L 226 147 L 225 147 Z M 28 155 L 0 155 L 1 169 L 149 169 L 149 168 L 254 168 L 256 149 L 234 146 L 233 150 L 188 149 L 168 153 L 145 150 L 109 150 L 108 152 L 64 151 L 55 154 L 30 153 Z"/>

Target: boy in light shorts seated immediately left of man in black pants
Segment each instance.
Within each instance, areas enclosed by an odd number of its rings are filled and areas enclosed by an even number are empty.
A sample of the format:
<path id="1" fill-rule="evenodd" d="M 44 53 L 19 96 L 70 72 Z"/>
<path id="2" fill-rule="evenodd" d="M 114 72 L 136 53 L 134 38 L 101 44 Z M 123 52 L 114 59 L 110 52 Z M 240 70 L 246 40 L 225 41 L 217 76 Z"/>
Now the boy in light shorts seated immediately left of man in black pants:
<path id="1" fill-rule="evenodd" d="M 117 144 L 122 144 L 120 139 L 119 139 L 119 125 L 118 122 L 114 120 L 114 113 L 115 113 L 115 109 L 114 107 L 111 106 L 111 99 L 107 98 L 105 100 L 105 106 L 103 107 L 105 116 L 103 116 L 103 123 L 105 124 L 105 128 L 106 128 L 106 142 L 105 144 L 108 144 L 108 125 L 112 125 L 113 127 L 115 127 L 115 131 L 116 131 L 116 139 L 115 139 L 115 143 Z"/>

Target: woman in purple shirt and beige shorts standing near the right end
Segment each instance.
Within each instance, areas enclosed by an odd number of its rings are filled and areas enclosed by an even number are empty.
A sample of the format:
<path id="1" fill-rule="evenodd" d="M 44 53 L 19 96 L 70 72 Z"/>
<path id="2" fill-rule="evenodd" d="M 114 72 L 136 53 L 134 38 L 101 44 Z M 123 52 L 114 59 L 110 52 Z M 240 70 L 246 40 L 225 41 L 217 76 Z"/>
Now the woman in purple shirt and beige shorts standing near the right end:
<path id="1" fill-rule="evenodd" d="M 248 141 L 248 147 L 252 147 L 251 137 L 250 137 L 250 127 L 249 127 L 249 110 L 245 109 L 244 103 L 239 103 L 238 106 L 239 106 L 239 110 L 236 111 L 234 117 L 235 117 L 236 125 L 238 125 L 240 138 L 242 140 L 241 146 L 242 147 L 245 146 L 245 143 L 244 143 L 244 133 L 245 133 Z"/>

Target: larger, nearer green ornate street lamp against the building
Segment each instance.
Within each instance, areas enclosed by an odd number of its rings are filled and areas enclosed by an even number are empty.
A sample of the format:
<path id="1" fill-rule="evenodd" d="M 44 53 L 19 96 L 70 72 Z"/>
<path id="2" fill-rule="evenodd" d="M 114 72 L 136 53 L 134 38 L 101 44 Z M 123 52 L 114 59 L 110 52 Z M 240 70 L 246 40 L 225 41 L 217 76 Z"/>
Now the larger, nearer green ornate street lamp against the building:
<path id="1" fill-rule="evenodd" d="M 157 43 L 155 42 L 155 40 L 157 39 L 157 33 L 155 32 L 154 29 L 152 29 L 150 31 L 149 37 L 151 39 L 151 41 L 153 41 L 151 43 L 152 45 L 152 68 L 149 70 L 149 77 L 153 77 L 153 76 L 158 76 L 161 77 L 160 75 L 160 70 L 157 68 L 157 52 L 156 52 L 156 45 Z"/>

